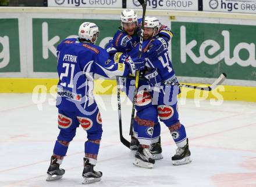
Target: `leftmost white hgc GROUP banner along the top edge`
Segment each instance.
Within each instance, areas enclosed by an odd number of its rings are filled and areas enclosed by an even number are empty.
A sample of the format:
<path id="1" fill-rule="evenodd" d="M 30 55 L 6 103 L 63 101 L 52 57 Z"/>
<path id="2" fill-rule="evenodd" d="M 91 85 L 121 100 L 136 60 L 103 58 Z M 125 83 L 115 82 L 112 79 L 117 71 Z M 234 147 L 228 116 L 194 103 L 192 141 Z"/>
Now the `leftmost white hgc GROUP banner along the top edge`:
<path id="1" fill-rule="evenodd" d="M 122 8 L 122 0 L 48 0 L 49 7 Z"/>

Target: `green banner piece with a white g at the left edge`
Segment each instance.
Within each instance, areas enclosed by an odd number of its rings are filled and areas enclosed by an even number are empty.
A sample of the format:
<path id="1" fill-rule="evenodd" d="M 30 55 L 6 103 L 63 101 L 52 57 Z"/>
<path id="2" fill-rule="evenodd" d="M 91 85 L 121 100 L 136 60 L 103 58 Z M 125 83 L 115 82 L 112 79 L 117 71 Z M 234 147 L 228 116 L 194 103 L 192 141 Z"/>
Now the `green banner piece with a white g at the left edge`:
<path id="1" fill-rule="evenodd" d="M 20 72 L 18 19 L 0 19 L 0 72 Z"/>

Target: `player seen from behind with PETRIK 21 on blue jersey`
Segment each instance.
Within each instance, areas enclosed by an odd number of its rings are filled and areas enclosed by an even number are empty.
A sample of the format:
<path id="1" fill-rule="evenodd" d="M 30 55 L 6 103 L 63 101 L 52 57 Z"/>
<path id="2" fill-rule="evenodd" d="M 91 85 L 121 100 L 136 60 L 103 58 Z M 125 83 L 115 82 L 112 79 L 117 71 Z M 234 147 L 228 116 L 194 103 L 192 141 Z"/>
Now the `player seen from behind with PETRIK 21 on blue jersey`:
<path id="1" fill-rule="evenodd" d="M 115 63 L 106 50 L 94 45 L 99 35 L 97 25 L 85 22 L 80 25 L 79 38 L 63 40 L 57 47 L 59 83 L 56 107 L 58 128 L 47 181 L 62 178 L 65 170 L 59 168 L 70 141 L 81 125 L 87 131 L 84 144 L 84 184 L 101 179 L 101 171 L 94 171 L 102 135 L 101 114 L 93 96 L 94 74 L 104 77 L 127 76 L 144 68 L 144 60 L 123 57 Z"/>

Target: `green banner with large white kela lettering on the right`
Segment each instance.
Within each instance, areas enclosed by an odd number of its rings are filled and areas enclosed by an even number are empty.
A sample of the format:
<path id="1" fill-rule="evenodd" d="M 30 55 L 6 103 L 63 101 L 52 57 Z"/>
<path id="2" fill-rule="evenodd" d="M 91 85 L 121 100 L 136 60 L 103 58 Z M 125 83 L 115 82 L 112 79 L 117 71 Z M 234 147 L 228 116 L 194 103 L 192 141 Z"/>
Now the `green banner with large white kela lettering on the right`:
<path id="1" fill-rule="evenodd" d="M 256 80 L 256 26 L 172 21 L 178 76 Z"/>

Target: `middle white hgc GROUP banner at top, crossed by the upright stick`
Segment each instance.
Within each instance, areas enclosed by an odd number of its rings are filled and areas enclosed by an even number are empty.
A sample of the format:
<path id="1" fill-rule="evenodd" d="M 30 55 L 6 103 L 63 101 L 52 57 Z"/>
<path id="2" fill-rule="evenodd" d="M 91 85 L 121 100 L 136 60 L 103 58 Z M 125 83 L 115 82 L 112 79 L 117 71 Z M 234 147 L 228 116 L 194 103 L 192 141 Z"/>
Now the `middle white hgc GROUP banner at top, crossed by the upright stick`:
<path id="1" fill-rule="evenodd" d="M 145 0 L 147 9 L 163 10 L 198 10 L 197 0 Z M 126 1 L 127 8 L 140 9 L 137 0 Z"/>

